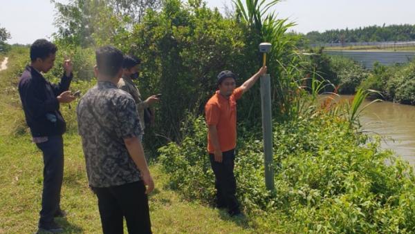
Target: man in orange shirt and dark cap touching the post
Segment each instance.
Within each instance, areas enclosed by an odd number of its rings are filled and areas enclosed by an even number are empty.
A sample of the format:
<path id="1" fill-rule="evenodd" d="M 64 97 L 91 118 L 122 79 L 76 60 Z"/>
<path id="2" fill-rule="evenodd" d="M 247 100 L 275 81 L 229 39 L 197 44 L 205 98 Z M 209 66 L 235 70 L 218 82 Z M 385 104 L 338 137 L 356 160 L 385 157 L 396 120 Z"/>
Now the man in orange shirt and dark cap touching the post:
<path id="1" fill-rule="evenodd" d="M 228 208 L 231 216 L 240 216 L 235 196 L 237 182 L 234 177 L 234 149 L 237 146 L 237 100 L 266 73 L 266 66 L 236 88 L 237 76 L 230 70 L 218 75 L 219 90 L 205 106 L 208 124 L 208 152 L 215 175 L 216 205 Z"/>

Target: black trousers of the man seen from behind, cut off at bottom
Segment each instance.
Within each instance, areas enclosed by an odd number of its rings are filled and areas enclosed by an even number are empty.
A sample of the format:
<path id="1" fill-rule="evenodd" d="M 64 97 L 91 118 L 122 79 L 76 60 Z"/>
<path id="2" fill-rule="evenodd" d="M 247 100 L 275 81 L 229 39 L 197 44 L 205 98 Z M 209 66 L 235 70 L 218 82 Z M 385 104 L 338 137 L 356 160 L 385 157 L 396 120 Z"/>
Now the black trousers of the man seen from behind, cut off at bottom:
<path id="1" fill-rule="evenodd" d="M 123 217 L 129 234 L 151 233 L 149 203 L 142 181 L 93 188 L 98 197 L 102 231 L 104 234 L 122 234 Z"/>

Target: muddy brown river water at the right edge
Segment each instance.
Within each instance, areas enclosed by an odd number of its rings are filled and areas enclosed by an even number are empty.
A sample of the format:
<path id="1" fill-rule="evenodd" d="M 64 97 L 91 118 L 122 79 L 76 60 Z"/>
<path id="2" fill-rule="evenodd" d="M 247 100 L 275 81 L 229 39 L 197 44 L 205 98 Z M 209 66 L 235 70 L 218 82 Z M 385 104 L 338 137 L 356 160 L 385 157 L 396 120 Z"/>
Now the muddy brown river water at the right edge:
<path id="1" fill-rule="evenodd" d="M 342 99 L 351 96 L 342 95 Z M 369 104 L 365 101 L 362 106 Z M 415 106 L 376 102 L 363 110 L 360 117 L 362 130 L 381 135 L 381 147 L 393 150 L 410 164 L 415 165 Z"/>

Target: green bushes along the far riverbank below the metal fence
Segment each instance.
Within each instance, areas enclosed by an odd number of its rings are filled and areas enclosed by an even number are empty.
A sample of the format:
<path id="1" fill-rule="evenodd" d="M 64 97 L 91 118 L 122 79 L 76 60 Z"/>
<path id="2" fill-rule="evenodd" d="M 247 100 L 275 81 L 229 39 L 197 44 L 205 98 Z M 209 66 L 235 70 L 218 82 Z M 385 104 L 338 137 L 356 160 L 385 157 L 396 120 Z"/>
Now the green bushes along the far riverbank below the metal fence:
<path id="1" fill-rule="evenodd" d="M 310 52 L 304 59 L 306 64 L 299 66 L 305 77 L 330 81 L 338 87 L 339 94 L 353 95 L 358 88 L 378 90 L 380 93 L 373 92 L 370 97 L 415 105 L 415 61 L 394 66 L 375 63 L 373 70 L 365 70 L 349 58 L 324 55 L 321 49 Z M 306 83 L 310 86 L 311 81 Z M 333 88 L 322 91 L 333 91 Z"/>

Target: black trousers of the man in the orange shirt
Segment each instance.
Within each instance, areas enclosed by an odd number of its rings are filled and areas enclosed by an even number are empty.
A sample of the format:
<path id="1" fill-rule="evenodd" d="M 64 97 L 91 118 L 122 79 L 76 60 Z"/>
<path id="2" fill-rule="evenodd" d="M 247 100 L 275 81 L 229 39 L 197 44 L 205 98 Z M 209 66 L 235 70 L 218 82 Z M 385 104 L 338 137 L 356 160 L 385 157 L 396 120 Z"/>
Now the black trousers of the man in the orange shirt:
<path id="1" fill-rule="evenodd" d="M 210 153 L 210 164 L 215 176 L 216 204 L 219 208 L 228 208 L 230 215 L 240 213 L 239 202 L 236 197 L 237 181 L 234 177 L 235 150 L 223 152 L 222 162 L 214 161 L 214 154 Z"/>

